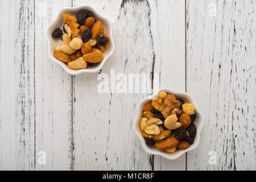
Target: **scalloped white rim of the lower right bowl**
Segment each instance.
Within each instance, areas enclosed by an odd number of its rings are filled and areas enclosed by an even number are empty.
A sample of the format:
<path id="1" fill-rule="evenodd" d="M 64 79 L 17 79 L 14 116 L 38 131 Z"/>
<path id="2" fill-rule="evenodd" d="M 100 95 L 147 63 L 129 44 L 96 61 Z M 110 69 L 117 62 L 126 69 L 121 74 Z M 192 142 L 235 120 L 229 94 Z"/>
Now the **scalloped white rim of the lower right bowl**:
<path id="1" fill-rule="evenodd" d="M 176 95 L 182 95 L 182 96 L 188 98 L 188 100 L 191 100 L 191 104 L 193 104 L 193 106 L 195 106 L 196 113 L 201 118 L 200 119 L 200 125 L 196 126 L 197 127 L 197 135 L 196 135 L 197 142 L 193 143 L 193 146 L 189 146 L 185 150 L 180 150 L 181 152 L 179 152 L 179 154 L 175 154 L 175 153 L 170 154 L 170 153 L 167 153 L 167 152 L 164 152 L 164 151 L 156 150 L 155 148 L 148 147 L 146 145 L 145 139 L 143 138 L 143 136 L 141 134 L 141 129 L 139 129 L 140 132 L 137 130 L 137 128 L 139 126 L 139 121 L 141 120 L 141 114 L 142 114 L 141 106 L 142 106 L 142 104 L 147 100 L 151 100 L 154 97 L 158 97 L 158 93 L 163 92 L 163 91 L 167 92 L 168 94 L 174 94 L 175 96 Z M 175 159 L 179 158 L 181 155 L 185 154 L 186 152 L 194 150 L 197 146 L 199 146 L 200 133 L 201 133 L 201 129 L 202 129 L 203 125 L 204 125 L 203 114 L 201 114 L 201 111 L 198 109 L 198 107 L 195 105 L 195 103 L 193 103 L 192 97 L 188 93 L 186 93 L 186 92 L 176 92 L 176 91 L 168 89 L 168 88 L 161 88 L 161 89 L 157 90 L 156 92 L 154 92 L 152 95 L 144 98 L 143 100 L 141 100 L 141 102 L 139 102 L 139 105 L 137 106 L 136 117 L 135 117 L 134 122 L 133 122 L 133 130 L 134 130 L 135 134 L 137 135 L 137 137 L 139 138 L 139 140 L 141 141 L 143 149 L 148 154 L 159 155 L 159 156 L 163 156 L 166 159 L 175 160 Z"/>

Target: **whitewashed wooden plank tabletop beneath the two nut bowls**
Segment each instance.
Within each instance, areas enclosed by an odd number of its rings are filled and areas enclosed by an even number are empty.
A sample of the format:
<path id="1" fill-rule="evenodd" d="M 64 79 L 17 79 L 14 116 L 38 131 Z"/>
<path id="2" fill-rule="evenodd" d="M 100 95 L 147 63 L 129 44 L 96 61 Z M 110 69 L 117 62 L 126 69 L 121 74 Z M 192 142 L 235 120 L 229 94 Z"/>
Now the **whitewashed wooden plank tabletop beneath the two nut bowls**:
<path id="1" fill-rule="evenodd" d="M 0 2 L 0 169 L 255 170 L 256 1 Z M 71 76 L 49 59 L 46 29 L 80 5 L 112 21 L 116 49 L 100 73 Z M 199 146 L 148 155 L 132 123 L 149 94 L 98 93 L 110 69 L 189 93 L 205 118 Z"/>

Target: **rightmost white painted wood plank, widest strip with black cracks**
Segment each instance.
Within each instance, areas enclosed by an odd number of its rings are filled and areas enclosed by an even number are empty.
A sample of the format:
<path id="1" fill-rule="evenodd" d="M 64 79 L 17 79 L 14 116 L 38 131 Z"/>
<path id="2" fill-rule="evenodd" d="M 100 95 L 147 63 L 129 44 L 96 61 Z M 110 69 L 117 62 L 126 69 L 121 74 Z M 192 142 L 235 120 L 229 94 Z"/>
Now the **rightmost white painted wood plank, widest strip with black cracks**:
<path id="1" fill-rule="evenodd" d="M 189 170 L 255 170 L 255 10 L 249 0 L 187 1 L 187 90 L 205 117 Z"/>

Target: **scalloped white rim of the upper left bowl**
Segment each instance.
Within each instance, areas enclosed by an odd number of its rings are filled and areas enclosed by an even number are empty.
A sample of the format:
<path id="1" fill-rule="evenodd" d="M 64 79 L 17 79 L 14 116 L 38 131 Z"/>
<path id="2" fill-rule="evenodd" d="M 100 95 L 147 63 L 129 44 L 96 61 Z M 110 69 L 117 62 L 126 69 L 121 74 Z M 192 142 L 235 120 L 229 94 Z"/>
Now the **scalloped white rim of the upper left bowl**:
<path id="1" fill-rule="evenodd" d="M 110 52 L 108 55 L 104 55 L 104 60 L 101 61 L 101 64 L 97 65 L 97 67 L 93 68 L 93 69 L 73 69 L 71 71 L 69 71 L 67 65 L 63 65 L 61 64 L 61 61 L 57 60 L 55 57 L 53 57 L 52 55 L 52 50 L 51 50 L 51 40 L 49 39 L 48 35 L 48 30 L 49 28 L 51 28 L 53 26 L 53 24 L 55 24 L 59 19 L 58 17 L 60 17 L 61 14 L 63 14 L 64 11 L 68 11 L 68 10 L 81 10 L 81 9 L 85 9 L 85 8 L 89 8 L 93 11 L 94 14 L 96 14 L 100 19 L 104 19 L 109 23 L 109 38 L 110 38 L 110 42 L 112 44 L 112 49 L 110 49 Z M 109 59 L 110 56 L 113 55 L 113 52 L 115 50 L 115 43 L 114 43 L 114 39 L 113 39 L 113 33 L 112 33 L 113 27 L 112 27 L 112 23 L 110 22 L 110 20 L 108 18 L 106 18 L 105 16 L 101 15 L 100 13 L 98 13 L 92 6 L 90 5 L 82 5 L 82 6 L 78 6 L 78 7 L 65 7 L 63 9 L 61 9 L 59 11 L 59 13 L 57 14 L 56 18 L 48 25 L 47 29 L 46 29 L 46 38 L 48 41 L 48 55 L 51 58 L 52 61 L 54 61 L 55 63 L 59 64 L 67 73 L 69 73 L 70 75 L 79 75 L 81 73 L 98 73 L 102 67 L 104 66 L 104 64 L 106 63 L 106 61 Z"/>

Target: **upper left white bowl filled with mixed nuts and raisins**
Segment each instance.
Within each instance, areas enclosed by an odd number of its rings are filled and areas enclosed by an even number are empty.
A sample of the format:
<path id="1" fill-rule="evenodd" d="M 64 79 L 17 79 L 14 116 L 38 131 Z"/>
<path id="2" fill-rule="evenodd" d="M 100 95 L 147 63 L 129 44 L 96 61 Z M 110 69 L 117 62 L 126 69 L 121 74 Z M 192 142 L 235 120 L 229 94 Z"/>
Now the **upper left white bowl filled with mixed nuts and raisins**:
<path id="1" fill-rule="evenodd" d="M 100 71 L 115 47 L 112 23 L 91 6 L 61 10 L 47 39 L 49 56 L 71 75 Z"/>

